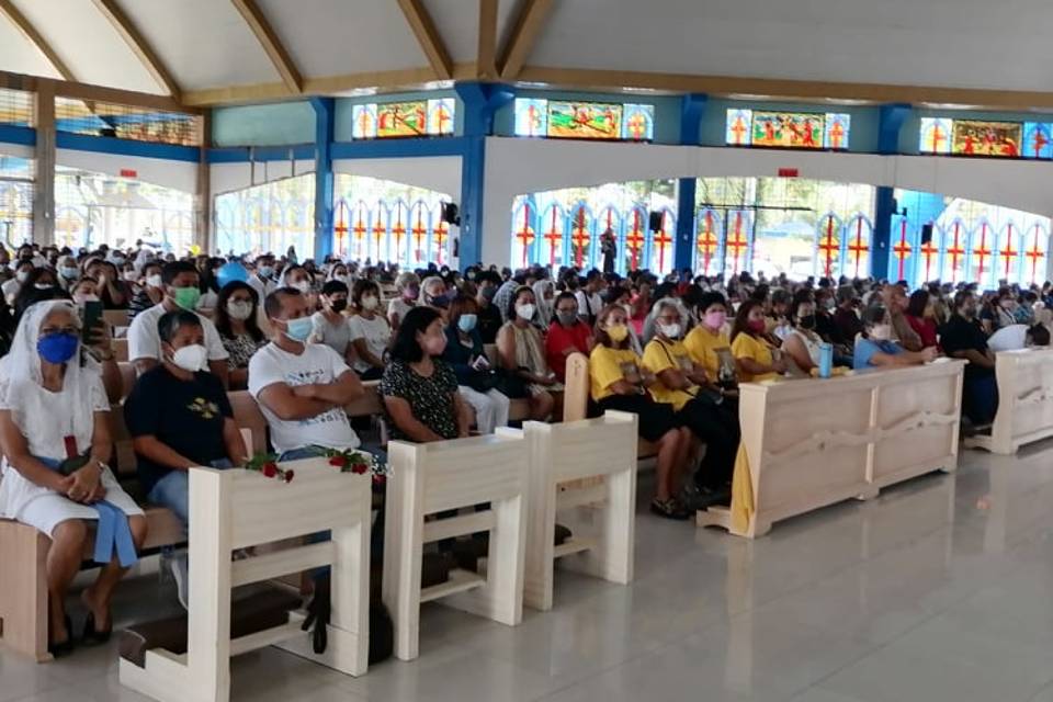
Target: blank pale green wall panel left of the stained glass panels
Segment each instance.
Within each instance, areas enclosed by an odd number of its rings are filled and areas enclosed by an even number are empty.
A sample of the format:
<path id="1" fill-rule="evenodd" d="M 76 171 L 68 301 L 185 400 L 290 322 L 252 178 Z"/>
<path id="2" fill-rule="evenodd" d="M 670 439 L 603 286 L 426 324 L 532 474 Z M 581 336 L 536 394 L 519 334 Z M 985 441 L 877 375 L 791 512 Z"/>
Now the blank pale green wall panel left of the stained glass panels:
<path id="1" fill-rule="evenodd" d="M 315 111 L 309 102 L 219 107 L 212 113 L 214 146 L 313 144 Z"/>

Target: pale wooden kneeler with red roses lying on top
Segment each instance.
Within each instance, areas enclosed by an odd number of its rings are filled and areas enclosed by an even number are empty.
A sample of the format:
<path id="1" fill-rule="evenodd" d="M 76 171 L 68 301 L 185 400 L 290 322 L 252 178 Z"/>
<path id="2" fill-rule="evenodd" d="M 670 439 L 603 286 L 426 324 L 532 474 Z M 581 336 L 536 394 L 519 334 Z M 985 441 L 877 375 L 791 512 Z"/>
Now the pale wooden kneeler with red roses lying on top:
<path id="1" fill-rule="evenodd" d="M 352 676 L 369 661 L 370 475 L 340 473 L 325 458 L 282 465 L 292 483 L 249 471 L 200 468 L 190 475 L 190 591 L 186 653 L 149 649 L 144 665 L 121 660 L 121 683 L 162 702 L 225 702 L 230 657 L 286 644 L 296 655 Z M 231 562 L 234 550 L 331 531 L 325 543 L 294 546 Z M 332 620 L 326 653 L 312 653 L 303 615 L 230 637 L 231 588 L 332 567 Z"/>

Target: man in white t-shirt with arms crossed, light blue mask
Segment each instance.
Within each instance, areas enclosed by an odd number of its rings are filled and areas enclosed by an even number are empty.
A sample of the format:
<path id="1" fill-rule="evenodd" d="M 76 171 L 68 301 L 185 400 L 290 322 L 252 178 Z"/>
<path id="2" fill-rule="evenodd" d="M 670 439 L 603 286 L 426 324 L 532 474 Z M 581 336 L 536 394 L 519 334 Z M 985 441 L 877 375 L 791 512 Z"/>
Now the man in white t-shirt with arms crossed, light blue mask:
<path id="1" fill-rule="evenodd" d="M 280 287 L 264 308 L 274 332 L 249 361 L 249 393 L 267 418 L 274 450 L 292 461 L 314 455 L 312 446 L 358 449 L 343 407 L 363 395 L 362 383 L 336 351 L 307 343 L 307 298 Z"/>

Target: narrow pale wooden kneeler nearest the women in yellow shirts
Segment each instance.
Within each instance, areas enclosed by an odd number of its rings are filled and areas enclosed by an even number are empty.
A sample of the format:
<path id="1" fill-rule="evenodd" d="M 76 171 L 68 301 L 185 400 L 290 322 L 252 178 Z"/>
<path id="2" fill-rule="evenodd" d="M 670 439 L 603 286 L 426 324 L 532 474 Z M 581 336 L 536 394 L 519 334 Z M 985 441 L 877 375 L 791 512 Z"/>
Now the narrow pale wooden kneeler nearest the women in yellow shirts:
<path id="1" fill-rule="evenodd" d="M 553 570 L 564 567 L 622 585 L 633 579 L 636 415 L 526 422 L 530 506 L 524 602 L 552 609 Z M 604 478 L 595 484 L 589 478 Z M 557 517 L 558 513 L 558 517 Z M 574 536 L 555 545 L 556 521 Z"/>

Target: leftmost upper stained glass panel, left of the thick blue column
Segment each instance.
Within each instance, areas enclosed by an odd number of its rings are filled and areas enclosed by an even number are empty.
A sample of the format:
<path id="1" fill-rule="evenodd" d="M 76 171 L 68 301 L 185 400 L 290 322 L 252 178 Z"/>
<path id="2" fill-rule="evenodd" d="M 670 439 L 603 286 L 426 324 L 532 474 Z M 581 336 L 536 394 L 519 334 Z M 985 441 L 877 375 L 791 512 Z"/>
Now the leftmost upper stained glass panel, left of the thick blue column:
<path id="1" fill-rule="evenodd" d="M 450 136 L 455 116 L 453 98 L 358 104 L 351 109 L 351 138 Z"/>

